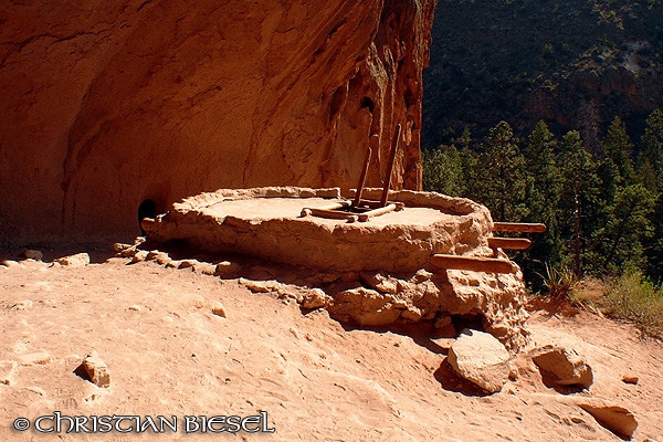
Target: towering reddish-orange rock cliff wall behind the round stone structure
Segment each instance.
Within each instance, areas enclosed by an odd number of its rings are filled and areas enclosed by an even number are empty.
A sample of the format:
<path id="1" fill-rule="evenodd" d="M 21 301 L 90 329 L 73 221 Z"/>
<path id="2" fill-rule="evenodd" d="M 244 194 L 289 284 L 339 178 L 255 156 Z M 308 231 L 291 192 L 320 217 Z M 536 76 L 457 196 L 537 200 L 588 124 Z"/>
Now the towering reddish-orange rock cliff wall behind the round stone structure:
<path id="1" fill-rule="evenodd" d="M 0 244 L 138 233 L 137 210 L 256 186 L 421 185 L 435 0 L 0 6 Z"/>

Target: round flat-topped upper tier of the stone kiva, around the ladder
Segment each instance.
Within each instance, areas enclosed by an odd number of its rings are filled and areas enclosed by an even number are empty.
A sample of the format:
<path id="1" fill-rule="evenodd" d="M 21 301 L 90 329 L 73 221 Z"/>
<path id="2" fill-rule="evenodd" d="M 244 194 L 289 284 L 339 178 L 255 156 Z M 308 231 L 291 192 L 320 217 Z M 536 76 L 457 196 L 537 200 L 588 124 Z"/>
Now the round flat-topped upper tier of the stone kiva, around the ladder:
<path id="1" fill-rule="evenodd" d="M 379 199 L 381 189 L 364 198 Z M 411 272 L 434 253 L 490 255 L 488 210 L 433 192 L 392 191 L 404 208 L 367 222 L 302 217 L 305 208 L 349 201 L 339 189 L 256 188 L 202 193 L 144 222 L 151 240 L 185 240 L 209 252 L 238 252 L 333 271 Z"/>

